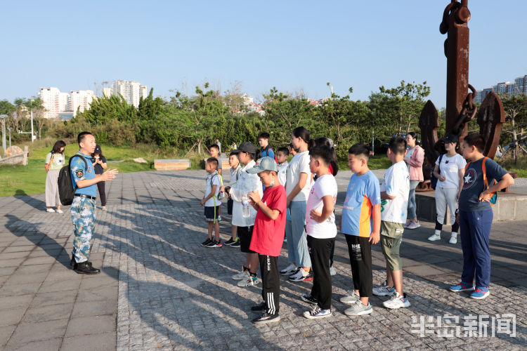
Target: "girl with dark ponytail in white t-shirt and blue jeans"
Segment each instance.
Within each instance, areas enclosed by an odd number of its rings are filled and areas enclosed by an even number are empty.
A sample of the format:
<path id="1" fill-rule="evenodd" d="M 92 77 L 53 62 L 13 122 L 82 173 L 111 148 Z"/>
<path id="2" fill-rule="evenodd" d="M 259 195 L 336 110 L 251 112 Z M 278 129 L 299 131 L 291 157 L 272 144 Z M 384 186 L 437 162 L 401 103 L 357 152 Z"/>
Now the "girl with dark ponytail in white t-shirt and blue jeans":
<path id="1" fill-rule="evenodd" d="M 309 274 L 311 270 L 311 259 L 307 247 L 306 232 L 306 201 L 309 196 L 311 184 L 311 170 L 309 169 L 309 148 L 313 146 L 313 140 L 309 138 L 309 132 L 304 127 L 294 128 L 291 134 L 291 143 L 297 154 L 294 155 L 287 167 L 287 180 L 285 182 L 285 193 L 287 194 L 287 208 L 291 213 L 291 220 L 285 222 L 285 234 L 287 236 L 287 258 L 289 266 L 280 271 L 281 274 L 292 274 L 289 279 L 301 282 L 313 277 Z M 299 269 L 297 269 L 300 267 Z"/>

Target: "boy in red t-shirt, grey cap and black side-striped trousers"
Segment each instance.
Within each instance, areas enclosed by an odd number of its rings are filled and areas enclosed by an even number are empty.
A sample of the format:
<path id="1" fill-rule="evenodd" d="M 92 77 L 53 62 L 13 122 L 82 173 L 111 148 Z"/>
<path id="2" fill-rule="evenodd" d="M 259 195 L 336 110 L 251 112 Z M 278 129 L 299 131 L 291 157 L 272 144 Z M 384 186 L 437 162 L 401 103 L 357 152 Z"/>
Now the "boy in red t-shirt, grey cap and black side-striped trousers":
<path id="1" fill-rule="evenodd" d="M 263 157 L 247 173 L 258 173 L 265 187 L 261 199 L 258 192 L 249 192 L 249 202 L 256 210 L 249 249 L 258 253 L 263 285 L 263 303 L 251 308 L 253 312 L 262 314 L 252 322 L 266 324 L 280 320 L 278 256 L 284 241 L 287 195 L 285 187 L 278 181 L 278 165 L 271 157 Z"/>

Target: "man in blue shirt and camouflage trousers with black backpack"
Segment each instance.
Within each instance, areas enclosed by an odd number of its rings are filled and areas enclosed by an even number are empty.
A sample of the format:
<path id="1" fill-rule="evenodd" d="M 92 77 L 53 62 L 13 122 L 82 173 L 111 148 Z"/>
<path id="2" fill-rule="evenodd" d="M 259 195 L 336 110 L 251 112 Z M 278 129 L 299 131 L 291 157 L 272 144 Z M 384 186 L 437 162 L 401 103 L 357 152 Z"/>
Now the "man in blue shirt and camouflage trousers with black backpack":
<path id="1" fill-rule="evenodd" d="M 72 156 L 71 178 L 74 188 L 72 202 L 73 251 L 70 267 L 79 274 L 97 274 L 100 270 L 93 268 L 90 256 L 90 241 L 95 227 L 95 200 L 98 182 L 113 180 L 117 169 L 110 169 L 103 174 L 95 174 L 91 163 L 91 154 L 96 147 L 95 137 L 89 132 L 77 136 L 79 151 Z"/>

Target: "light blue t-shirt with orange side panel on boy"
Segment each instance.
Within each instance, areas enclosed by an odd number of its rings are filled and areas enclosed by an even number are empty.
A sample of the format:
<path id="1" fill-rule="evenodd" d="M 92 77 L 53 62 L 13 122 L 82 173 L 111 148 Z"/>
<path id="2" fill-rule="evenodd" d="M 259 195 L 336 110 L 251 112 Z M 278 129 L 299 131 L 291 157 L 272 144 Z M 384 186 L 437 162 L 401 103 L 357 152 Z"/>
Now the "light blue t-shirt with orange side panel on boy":
<path id="1" fill-rule="evenodd" d="M 379 180 L 367 171 L 362 176 L 354 173 L 346 190 L 342 206 L 342 229 L 344 234 L 370 237 L 373 230 L 372 207 L 381 203 Z"/>

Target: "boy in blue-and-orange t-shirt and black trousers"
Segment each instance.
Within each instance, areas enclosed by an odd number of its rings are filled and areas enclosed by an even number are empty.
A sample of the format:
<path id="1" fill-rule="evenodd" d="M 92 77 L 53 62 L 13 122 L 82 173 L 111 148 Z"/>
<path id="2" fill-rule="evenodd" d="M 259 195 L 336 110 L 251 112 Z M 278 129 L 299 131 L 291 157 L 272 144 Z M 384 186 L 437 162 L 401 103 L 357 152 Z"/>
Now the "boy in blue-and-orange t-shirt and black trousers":
<path id="1" fill-rule="evenodd" d="M 351 307 L 344 313 L 361 315 L 371 313 L 372 296 L 372 244 L 380 239 L 381 192 L 379 180 L 370 171 L 367 161 L 370 148 L 358 143 L 348 151 L 348 166 L 353 172 L 349 180 L 346 200 L 342 207 L 341 232 L 346 234 L 353 288 L 355 291 L 340 299 Z"/>

